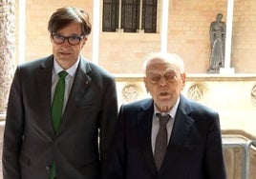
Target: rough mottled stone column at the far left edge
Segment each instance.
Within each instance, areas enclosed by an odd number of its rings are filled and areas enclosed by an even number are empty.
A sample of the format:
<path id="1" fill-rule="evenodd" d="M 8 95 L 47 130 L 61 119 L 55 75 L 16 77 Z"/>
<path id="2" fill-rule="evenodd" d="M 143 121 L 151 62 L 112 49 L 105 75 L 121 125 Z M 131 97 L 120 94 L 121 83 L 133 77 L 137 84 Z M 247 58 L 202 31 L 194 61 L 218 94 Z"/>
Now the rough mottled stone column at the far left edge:
<path id="1" fill-rule="evenodd" d="M 15 61 L 15 0 L 0 0 L 0 118 L 6 113 Z"/>

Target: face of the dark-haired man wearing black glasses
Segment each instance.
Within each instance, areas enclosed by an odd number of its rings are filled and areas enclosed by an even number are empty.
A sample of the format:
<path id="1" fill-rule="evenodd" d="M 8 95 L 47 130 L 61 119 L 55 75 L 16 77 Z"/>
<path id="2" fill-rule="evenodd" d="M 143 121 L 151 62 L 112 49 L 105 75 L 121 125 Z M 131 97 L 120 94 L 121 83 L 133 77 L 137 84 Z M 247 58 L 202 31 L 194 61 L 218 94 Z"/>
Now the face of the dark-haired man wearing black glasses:
<path id="1" fill-rule="evenodd" d="M 81 26 L 77 23 L 71 23 L 69 26 L 55 31 L 53 34 L 56 35 L 54 36 L 54 40 L 53 35 L 51 36 L 51 42 L 53 44 L 53 55 L 56 61 L 63 69 L 70 68 L 75 64 L 79 53 L 87 40 L 86 37 L 81 35 Z M 69 37 L 69 39 L 66 38 L 63 43 L 59 43 L 61 42 L 61 38 L 63 40 L 63 37 Z M 73 43 L 76 38 L 80 38 L 80 40 L 78 40 L 78 44 L 71 45 L 68 42 L 68 40 L 70 40 L 70 42 Z"/>

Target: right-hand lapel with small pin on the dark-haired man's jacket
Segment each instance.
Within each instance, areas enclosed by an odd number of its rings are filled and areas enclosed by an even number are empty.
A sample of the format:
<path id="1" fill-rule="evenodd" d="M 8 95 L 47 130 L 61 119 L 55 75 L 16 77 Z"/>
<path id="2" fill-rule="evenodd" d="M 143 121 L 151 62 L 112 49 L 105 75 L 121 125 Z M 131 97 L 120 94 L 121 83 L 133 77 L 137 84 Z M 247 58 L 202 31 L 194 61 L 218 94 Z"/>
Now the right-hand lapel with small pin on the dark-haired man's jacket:
<path id="1" fill-rule="evenodd" d="M 83 57 L 81 57 L 77 70 L 75 72 L 75 79 L 69 95 L 69 99 L 62 116 L 59 130 L 56 135 L 58 135 L 58 133 L 66 128 L 67 122 L 70 117 L 75 116 L 75 110 L 78 109 L 77 107 L 80 103 L 80 100 L 83 99 L 83 96 L 85 95 L 87 89 L 90 87 L 92 78 L 89 76 L 89 73 L 91 71 L 92 70 L 90 64 L 86 62 Z"/>

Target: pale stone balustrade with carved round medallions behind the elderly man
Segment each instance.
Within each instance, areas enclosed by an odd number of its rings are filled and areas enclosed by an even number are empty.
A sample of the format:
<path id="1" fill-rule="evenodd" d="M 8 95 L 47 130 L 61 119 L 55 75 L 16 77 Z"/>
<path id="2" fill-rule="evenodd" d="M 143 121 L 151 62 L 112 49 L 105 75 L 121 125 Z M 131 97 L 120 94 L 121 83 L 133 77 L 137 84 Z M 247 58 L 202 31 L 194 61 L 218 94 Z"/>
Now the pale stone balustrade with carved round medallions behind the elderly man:
<path id="1" fill-rule="evenodd" d="M 119 105 L 149 97 L 142 76 L 118 76 Z M 223 130 L 244 130 L 256 138 L 256 76 L 188 74 L 182 94 L 219 112 Z"/>

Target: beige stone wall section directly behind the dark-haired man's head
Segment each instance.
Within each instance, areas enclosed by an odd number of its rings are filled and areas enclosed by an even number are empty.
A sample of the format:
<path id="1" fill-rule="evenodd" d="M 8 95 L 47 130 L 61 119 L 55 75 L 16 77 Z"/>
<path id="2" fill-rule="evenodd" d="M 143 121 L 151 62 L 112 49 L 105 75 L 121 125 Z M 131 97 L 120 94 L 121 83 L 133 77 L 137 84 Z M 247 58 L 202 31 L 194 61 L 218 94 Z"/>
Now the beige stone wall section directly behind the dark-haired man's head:
<path id="1" fill-rule="evenodd" d="M 18 1 L 16 2 L 16 10 L 19 12 Z M 50 34 L 47 30 L 47 27 L 48 21 L 54 10 L 66 6 L 74 6 L 86 10 L 90 17 L 93 18 L 93 1 L 91 0 L 26 0 L 26 4 L 26 61 L 32 61 L 36 58 L 40 58 L 52 53 L 52 44 L 50 42 Z M 18 13 L 16 15 L 18 18 Z M 18 23 L 19 22 L 17 22 L 17 26 L 19 26 Z M 16 38 L 19 39 L 18 29 L 16 32 Z M 18 49 L 16 53 L 18 58 Z M 91 58 L 92 35 L 90 35 L 83 53 L 85 56 Z M 18 59 L 16 61 L 18 61 Z"/>

